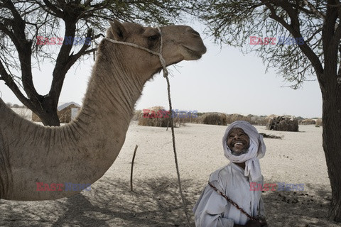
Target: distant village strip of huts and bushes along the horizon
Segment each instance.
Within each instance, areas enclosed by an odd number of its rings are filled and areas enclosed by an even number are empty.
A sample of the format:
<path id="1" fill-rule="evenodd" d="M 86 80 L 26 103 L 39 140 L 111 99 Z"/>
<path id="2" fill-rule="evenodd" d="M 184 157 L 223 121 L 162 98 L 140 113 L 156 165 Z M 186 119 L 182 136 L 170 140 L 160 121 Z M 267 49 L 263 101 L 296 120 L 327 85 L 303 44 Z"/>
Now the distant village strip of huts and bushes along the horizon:
<path id="1" fill-rule="evenodd" d="M 40 122 L 40 118 L 26 106 L 7 104 L 16 114 L 29 121 Z M 80 112 L 81 106 L 75 102 L 67 102 L 58 106 L 60 123 L 69 123 Z M 146 111 L 147 110 L 147 111 Z M 134 111 L 132 121 L 138 121 L 140 126 L 168 127 L 170 116 L 173 116 L 175 127 L 185 126 L 186 123 L 202 123 L 217 126 L 226 126 L 234 121 L 249 121 L 256 126 L 266 126 L 274 131 L 298 131 L 298 125 L 323 126 L 322 118 L 303 118 L 301 116 L 269 116 L 224 114 L 217 112 L 200 113 L 197 111 L 173 111 L 171 114 L 163 106 L 153 106 L 144 110 Z"/>

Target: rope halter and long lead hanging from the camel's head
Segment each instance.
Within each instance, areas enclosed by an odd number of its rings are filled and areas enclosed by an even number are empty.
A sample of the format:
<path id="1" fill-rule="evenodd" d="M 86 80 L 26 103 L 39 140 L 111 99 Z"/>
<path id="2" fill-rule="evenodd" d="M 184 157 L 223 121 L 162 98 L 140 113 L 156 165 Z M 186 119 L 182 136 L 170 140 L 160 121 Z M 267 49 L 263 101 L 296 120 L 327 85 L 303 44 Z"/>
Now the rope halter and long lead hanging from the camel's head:
<path id="1" fill-rule="evenodd" d="M 160 34 L 160 48 L 158 52 L 155 52 L 153 50 L 149 50 L 148 48 L 141 47 L 140 45 L 136 45 L 135 43 L 127 43 L 127 42 L 121 42 L 117 40 L 113 40 L 111 38 L 104 37 L 105 40 L 108 40 L 109 42 L 112 43 L 117 43 L 117 44 L 122 44 L 122 45 L 129 45 L 133 48 L 139 48 L 141 50 L 145 50 L 146 52 L 150 52 L 153 55 L 158 55 L 158 58 L 160 59 L 160 63 L 162 65 L 163 69 L 163 77 L 166 78 L 167 81 L 167 91 L 168 91 L 168 102 L 169 102 L 169 111 L 173 113 L 172 109 L 172 102 L 171 102 L 171 85 L 169 84 L 169 79 L 168 79 L 168 70 L 166 67 L 166 60 L 162 56 L 162 48 L 163 48 L 163 38 L 162 38 L 162 33 L 161 29 L 158 28 L 158 33 Z M 176 174 L 178 175 L 178 185 L 179 185 L 179 191 L 180 191 L 180 196 L 181 200 L 183 201 L 183 211 L 185 212 L 185 216 L 187 218 L 187 225 L 190 227 L 190 218 L 188 217 L 187 209 L 186 209 L 186 204 L 185 204 L 185 198 L 183 196 L 183 189 L 181 187 L 181 181 L 180 181 L 180 171 L 179 171 L 179 165 L 178 165 L 178 157 L 176 155 L 176 150 L 175 150 L 175 134 L 174 134 L 174 121 L 173 121 L 173 114 L 171 114 L 171 129 L 172 129 L 172 139 L 173 139 L 173 151 L 174 151 L 174 159 L 175 159 L 175 167 L 176 167 Z"/>

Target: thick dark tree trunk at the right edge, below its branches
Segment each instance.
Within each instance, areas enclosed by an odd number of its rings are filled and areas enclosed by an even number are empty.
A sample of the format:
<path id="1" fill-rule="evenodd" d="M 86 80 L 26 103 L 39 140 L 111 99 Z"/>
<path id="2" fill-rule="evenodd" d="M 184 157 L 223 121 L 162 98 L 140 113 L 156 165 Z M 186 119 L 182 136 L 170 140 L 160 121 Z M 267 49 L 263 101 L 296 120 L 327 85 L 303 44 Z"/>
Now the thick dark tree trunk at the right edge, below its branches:
<path id="1" fill-rule="evenodd" d="M 332 187 L 328 218 L 341 222 L 341 86 L 328 74 L 323 94 L 323 150 Z M 334 81 L 335 79 L 335 81 Z"/>

